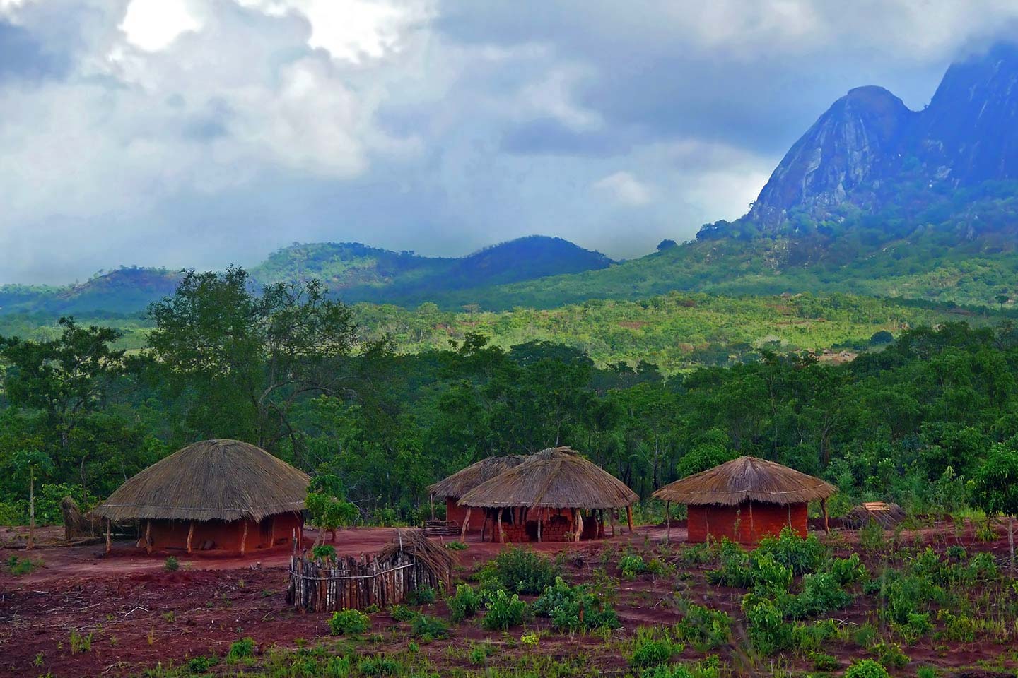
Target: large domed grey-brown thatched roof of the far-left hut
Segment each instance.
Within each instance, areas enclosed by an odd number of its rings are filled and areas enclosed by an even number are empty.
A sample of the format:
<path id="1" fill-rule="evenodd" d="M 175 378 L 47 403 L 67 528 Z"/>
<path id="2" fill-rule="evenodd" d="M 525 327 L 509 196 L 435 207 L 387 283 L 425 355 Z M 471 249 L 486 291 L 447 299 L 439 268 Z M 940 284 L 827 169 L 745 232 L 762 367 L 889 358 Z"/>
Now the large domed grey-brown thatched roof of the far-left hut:
<path id="1" fill-rule="evenodd" d="M 203 440 L 121 485 L 93 513 L 112 520 L 261 520 L 304 507 L 310 478 L 239 440 Z"/>

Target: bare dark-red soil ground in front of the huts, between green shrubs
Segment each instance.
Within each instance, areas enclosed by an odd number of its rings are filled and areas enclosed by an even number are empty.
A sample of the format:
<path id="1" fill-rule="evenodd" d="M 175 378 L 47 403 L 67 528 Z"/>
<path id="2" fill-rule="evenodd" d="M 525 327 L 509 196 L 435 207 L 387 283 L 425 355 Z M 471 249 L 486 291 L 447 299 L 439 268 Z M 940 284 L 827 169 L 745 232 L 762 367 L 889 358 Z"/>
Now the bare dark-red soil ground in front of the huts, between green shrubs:
<path id="1" fill-rule="evenodd" d="M 118 542 L 109 556 L 103 553 L 101 544 L 54 546 L 35 552 L 14 550 L 11 547 L 20 545 L 21 532 L 0 529 L 0 560 L 31 553 L 31 557 L 42 558 L 45 564 L 20 577 L 0 570 L 0 676 L 37 676 L 47 672 L 74 678 L 136 675 L 159 663 L 180 663 L 210 654 L 222 656 L 231 642 L 244 636 L 254 638 L 263 648 L 274 643 L 294 648 L 301 638 L 314 641 L 328 635 L 327 615 L 301 614 L 286 606 L 289 550 L 264 552 L 252 558 L 178 555 L 180 569 L 169 572 L 164 567 L 165 554 L 147 556 L 128 541 Z M 393 533 L 390 529 L 345 530 L 339 533 L 335 546 L 341 554 L 372 553 L 389 543 Z M 614 562 L 622 547 L 646 551 L 663 541 L 664 535 L 663 528 L 640 528 L 634 535 L 599 542 L 529 546 L 547 553 L 569 552 L 564 558 L 567 574 L 570 579 L 583 580 L 603 564 L 606 550 L 608 559 Z M 836 535 L 833 544 L 844 555 L 856 542 L 856 534 Z M 47 529 L 42 531 L 41 538 L 46 542 L 59 536 L 56 530 Z M 685 530 L 673 527 L 673 542 L 681 543 L 684 539 Z M 922 540 L 938 550 L 960 539 L 970 551 L 992 550 L 1002 559 L 1007 552 L 1003 535 L 995 543 L 978 543 L 971 528 L 959 536 L 953 527 L 941 526 L 906 533 L 902 539 L 908 544 Z M 476 537 L 468 543 L 467 550 L 454 552 L 461 574 L 487 562 L 502 548 L 498 544 L 479 543 Z M 260 563 L 257 569 L 251 569 L 252 563 Z M 613 576 L 618 576 L 613 566 L 609 569 Z M 696 568 L 690 571 L 700 576 L 680 582 L 680 587 L 685 587 L 681 593 L 687 599 L 725 610 L 735 619 L 741 618 L 739 601 L 745 592 L 708 587 L 701 572 Z M 624 626 L 620 632 L 631 633 L 644 624 L 678 621 L 681 615 L 673 605 L 675 588 L 674 579 L 655 578 L 648 573 L 635 580 L 623 579 L 615 605 Z M 436 604 L 434 608 L 429 614 L 445 614 L 444 604 Z M 862 605 L 856 605 L 842 616 L 845 623 L 854 624 L 866 621 L 869 614 Z M 376 628 L 394 623 L 385 612 L 374 618 Z M 89 652 L 71 653 L 72 631 L 84 636 L 92 634 Z M 740 635 L 744 630 L 737 627 L 735 632 Z M 486 633 L 474 624 L 462 624 L 454 629 L 452 638 L 436 641 L 425 652 L 433 658 L 442 658 L 449 644 L 463 645 L 486 637 L 499 642 L 501 635 Z M 601 642 L 600 638 L 588 635 L 553 635 L 542 640 L 541 653 L 570 657 L 586 645 L 592 649 Z M 900 675 L 914 675 L 915 669 L 925 664 L 949 670 L 971 667 L 981 660 L 995 660 L 1005 650 L 979 643 L 946 644 L 927 637 L 907 650 L 912 663 Z M 848 651 L 828 652 L 842 659 L 845 665 L 853 659 Z M 702 654 L 690 648 L 683 657 L 701 659 Z M 606 675 L 626 672 L 625 658 L 607 661 L 608 665 L 601 665 Z M 1013 667 L 1011 672 L 1014 675 Z"/>

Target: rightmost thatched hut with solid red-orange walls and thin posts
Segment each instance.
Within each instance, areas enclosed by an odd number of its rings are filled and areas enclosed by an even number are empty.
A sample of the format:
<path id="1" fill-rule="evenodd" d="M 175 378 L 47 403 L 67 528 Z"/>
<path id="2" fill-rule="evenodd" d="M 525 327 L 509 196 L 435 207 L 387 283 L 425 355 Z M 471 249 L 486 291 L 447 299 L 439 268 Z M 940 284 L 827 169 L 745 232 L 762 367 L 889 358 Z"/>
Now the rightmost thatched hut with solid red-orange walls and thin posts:
<path id="1" fill-rule="evenodd" d="M 654 496 L 666 502 L 666 511 L 673 502 L 689 507 L 690 542 L 725 537 L 756 544 L 786 526 L 805 537 L 808 503 L 817 499 L 826 525 L 827 498 L 834 493 L 835 488 L 819 478 L 755 456 L 740 456 L 666 485 Z"/>

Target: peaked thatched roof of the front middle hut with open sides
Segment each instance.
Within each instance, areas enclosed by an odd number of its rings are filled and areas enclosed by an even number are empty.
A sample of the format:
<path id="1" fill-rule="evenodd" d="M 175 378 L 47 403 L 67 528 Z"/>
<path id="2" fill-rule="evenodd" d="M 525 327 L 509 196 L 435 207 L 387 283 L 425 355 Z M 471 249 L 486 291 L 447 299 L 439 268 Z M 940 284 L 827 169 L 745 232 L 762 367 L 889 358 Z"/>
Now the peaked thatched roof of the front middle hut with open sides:
<path id="1" fill-rule="evenodd" d="M 464 494 L 464 506 L 617 508 L 639 497 L 625 483 L 569 447 L 535 452 Z"/>

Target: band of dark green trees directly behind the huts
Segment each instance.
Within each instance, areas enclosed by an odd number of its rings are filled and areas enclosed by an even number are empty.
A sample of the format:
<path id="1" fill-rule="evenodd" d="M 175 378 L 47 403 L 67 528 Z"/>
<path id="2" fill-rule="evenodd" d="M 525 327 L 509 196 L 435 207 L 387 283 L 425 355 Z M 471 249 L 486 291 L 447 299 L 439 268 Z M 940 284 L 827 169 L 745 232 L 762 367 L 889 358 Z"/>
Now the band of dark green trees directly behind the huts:
<path id="1" fill-rule="evenodd" d="M 0 340 L 0 519 L 24 519 L 25 458 L 52 520 L 60 497 L 94 503 L 212 437 L 340 479 L 370 520 L 415 518 L 429 483 L 478 458 L 552 445 L 582 450 L 644 498 L 754 454 L 829 479 L 843 506 L 915 509 L 965 505 L 982 459 L 1018 448 L 1009 322 L 920 326 L 890 344 L 874 332 L 878 350 L 841 365 L 758 348 L 666 375 L 647 360 L 599 365 L 574 346 L 505 348 L 479 332 L 401 354 L 318 283 L 254 291 L 235 268 L 188 273 L 150 317 L 138 352 L 69 318 L 50 338 Z"/>

